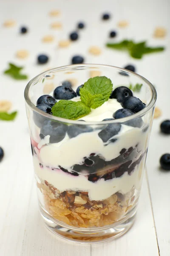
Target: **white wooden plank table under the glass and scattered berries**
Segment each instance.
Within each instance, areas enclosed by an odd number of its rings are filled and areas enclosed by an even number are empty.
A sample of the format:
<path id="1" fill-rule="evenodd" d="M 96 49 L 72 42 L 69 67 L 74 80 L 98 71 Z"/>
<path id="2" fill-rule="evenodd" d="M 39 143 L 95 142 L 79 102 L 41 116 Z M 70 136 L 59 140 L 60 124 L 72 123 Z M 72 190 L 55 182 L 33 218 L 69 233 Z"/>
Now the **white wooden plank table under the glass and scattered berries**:
<path id="1" fill-rule="evenodd" d="M 153 121 L 147 172 L 132 229 L 122 238 L 105 244 L 69 244 L 45 229 L 38 212 L 23 98 L 27 81 L 14 81 L 1 72 L 0 99 L 10 100 L 13 110 L 18 110 L 18 116 L 14 122 L 0 122 L 0 146 L 5 151 L 0 163 L 0 256 L 169 256 L 170 172 L 159 169 L 159 158 L 161 154 L 170 152 L 170 137 L 160 134 L 159 124 L 170 118 L 170 37 L 154 39 L 153 30 L 156 26 L 164 26 L 170 34 L 170 1 L 3 2 L 0 3 L 0 72 L 7 68 L 8 62 L 14 62 L 23 65 L 31 79 L 44 69 L 70 64 L 74 54 L 84 55 L 86 63 L 119 67 L 132 63 L 136 65 L 137 73 L 156 86 L 157 106 L 161 108 L 162 116 Z M 49 17 L 52 9 L 59 9 L 61 15 Z M 103 12 L 111 12 L 112 19 L 103 22 Z M 16 20 L 17 25 L 4 28 L 2 23 L 7 19 Z M 117 22 L 124 19 L 129 21 L 129 26 L 118 29 Z M 50 23 L 55 20 L 62 22 L 63 29 L 50 29 Z M 86 28 L 80 31 L 79 40 L 71 47 L 58 49 L 59 39 L 67 39 L 79 20 L 86 24 Z M 24 25 L 28 26 L 29 32 L 20 35 L 19 28 Z M 167 49 L 147 55 L 142 60 L 132 59 L 124 52 L 103 47 L 111 29 L 118 31 L 117 41 L 147 39 L 150 45 L 165 45 Z M 43 44 L 41 38 L 44 35 L 54 35 L 55 41 Z M 88 47 L 91 45 L 102 47 L 102 55 L 89 55 Z M 29 58 L 18 60 L 15 53 L 19 49 L 27 49 Z M 50 61 L 38 66 L 36 56 L 43 52 L 50 56 Z"/>

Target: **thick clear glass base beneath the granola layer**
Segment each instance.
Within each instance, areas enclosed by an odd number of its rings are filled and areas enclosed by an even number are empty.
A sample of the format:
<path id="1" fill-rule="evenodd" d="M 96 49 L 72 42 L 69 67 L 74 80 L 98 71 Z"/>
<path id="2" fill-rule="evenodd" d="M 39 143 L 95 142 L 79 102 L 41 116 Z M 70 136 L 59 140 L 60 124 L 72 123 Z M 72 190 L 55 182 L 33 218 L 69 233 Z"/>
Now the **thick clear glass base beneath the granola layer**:
<path id="1" fill-rule="evenodd" d="M 116 239 L 124 235 L 132 227 L 135 221 L 136 207 L 131 209 L 120 221 L 116 221 L 110 226 L 89 229 L 63 224 L 51 217 L 41 206 L 40 212 L 45 222 L 45 226 L 55 235 L 67 241 L 93 244 Z"/>

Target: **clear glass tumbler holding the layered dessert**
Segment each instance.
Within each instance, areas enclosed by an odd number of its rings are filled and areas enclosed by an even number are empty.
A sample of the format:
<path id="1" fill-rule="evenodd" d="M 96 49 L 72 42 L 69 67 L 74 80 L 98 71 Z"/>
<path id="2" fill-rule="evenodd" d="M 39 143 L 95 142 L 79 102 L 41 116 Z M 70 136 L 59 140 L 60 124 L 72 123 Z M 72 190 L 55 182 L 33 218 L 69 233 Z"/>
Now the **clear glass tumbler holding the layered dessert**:
<path id="1" fill-rule="evenodd" d="M 91 76 L 110 78 L 113 88 L 142 84 L 134 96 L 146 107 L 122 119 L 102 121 L 101 116 L 97 122 L 93 117 L 88 122 L 63 119 L 36 108 L 37 99 L 53 95 L 62 81 L 72 81 L 76 91 Z M 90 243 L 127 232 L 144 173 L 156 102 L 153 85 L 118 67 L 78 64 L 36 76 L 26 86 L 25 100 L 40 212 L 48 229 Z"/>

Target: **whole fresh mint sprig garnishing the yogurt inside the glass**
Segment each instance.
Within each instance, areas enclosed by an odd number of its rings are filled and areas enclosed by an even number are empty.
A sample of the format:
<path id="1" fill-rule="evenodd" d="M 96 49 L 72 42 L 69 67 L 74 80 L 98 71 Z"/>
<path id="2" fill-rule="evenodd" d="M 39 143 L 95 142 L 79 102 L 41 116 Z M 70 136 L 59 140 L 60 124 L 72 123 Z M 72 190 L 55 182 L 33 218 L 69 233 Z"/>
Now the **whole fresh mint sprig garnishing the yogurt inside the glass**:
<path id="1" fill-rule="evenodd" d="M 111 79 L 96 76 L 88 79 L 80 88 L 81 101 L 60 100 L 52 107 L 52 114 L 66 119 L 78 119 L 91 112 L 91 108 L 98 108 L 106 102 L 112 92 Z"/>

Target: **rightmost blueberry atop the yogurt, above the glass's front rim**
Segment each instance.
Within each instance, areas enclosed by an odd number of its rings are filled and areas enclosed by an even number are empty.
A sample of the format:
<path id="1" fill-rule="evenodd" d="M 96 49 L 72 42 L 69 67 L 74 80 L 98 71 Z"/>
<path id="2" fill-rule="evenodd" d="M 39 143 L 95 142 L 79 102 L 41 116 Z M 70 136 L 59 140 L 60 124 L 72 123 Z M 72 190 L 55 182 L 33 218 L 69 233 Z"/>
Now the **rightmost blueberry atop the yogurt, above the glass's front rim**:
<path id="1" fill-rule="evenodd" d="M 131 111 L 137 113 L 145 108 L 145 104 L 138 98 L 134 96 L 126 97 L 121 102 L 123 108 L 130 109 Z"/>

